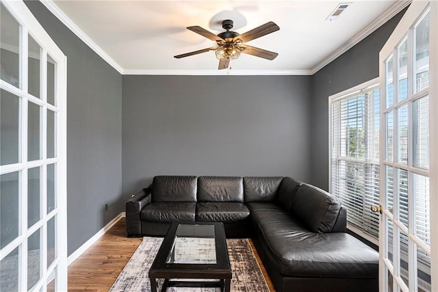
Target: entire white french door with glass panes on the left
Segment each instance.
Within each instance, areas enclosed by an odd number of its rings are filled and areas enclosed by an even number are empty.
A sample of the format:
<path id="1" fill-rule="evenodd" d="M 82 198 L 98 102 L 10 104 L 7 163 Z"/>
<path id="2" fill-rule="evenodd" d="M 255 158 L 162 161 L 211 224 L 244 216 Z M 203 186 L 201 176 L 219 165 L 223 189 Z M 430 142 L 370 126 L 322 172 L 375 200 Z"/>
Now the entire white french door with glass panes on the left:
<path id="1" fill-rule="evenodd" d="M 66 291 L 66 57 L 0 0 L 0 291 Z"/>

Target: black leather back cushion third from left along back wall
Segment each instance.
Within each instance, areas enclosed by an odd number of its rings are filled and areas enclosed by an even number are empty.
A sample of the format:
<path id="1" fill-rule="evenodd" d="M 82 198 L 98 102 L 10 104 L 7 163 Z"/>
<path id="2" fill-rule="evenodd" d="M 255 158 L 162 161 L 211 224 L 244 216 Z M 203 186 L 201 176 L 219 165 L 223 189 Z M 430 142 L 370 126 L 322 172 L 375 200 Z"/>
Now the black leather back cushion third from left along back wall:
<path id="1" fill-rule="evenodd" d="M 245 202 L 271 202 L 276 197 L 281 176 L 244 177 Z"/>

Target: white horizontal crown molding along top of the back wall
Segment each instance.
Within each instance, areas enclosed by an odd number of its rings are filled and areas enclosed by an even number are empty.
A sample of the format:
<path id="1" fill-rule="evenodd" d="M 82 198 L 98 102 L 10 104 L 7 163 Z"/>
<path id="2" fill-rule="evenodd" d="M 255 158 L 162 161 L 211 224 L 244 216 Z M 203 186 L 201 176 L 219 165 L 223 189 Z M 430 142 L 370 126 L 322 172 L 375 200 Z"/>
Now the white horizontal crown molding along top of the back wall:
<path id="1" fill-rule="evenodd" d="M 123 70 L 123 75 L 311 75 L 310 70 Z"/>

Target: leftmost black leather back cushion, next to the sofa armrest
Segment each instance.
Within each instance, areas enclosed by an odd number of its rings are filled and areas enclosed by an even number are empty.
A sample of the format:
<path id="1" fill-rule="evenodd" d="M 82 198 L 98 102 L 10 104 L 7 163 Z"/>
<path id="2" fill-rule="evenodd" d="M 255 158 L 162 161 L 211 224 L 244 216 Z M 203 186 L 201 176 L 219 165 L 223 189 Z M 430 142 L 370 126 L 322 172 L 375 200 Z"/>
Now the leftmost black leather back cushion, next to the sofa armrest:
<path id="1" fill-rule="evenodd" d="M 196 176 L 155 176 L 153 202 L 196 202 Z"/>

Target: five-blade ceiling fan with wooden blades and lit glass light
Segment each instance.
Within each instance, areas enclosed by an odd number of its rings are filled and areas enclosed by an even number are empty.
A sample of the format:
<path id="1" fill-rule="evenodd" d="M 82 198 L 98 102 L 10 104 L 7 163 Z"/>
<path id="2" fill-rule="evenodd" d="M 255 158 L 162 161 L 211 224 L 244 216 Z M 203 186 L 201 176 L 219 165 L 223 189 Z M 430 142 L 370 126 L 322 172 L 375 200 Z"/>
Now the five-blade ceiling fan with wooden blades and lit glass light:
<path id="1" fill-rule="evenodd" d="M 174 56 L 177 59 L 188 57 L 192 55 L 197 55 L 200 53 L 206 53 L 208 51 L 215 51 L 216 57 L 219 59 L 219 70 L 228 68 L 230 59 L 237 59 L 240 56 L 240 53 L 245 53 L 248 55 L 253 55 L 256 57 L 261 57 L 263 59 L 275 59 L 278 53 L 274 53 L 271 51 L 259 49 L 256 47 L 248 46 L 245 44 L 250 40 L 254 40 L 256 38 L 260 38 L 261 36 L 266 36 L 274 31 L 280 29 L 278 25 L 273 23 L 272 21 L 265 23 L 264 25 L 260 25 L 255 29 L 251 29 L 250 31 L 246 31 L 244 34 L 238 34 L 235 31 L 230 31 L 233 28 L 233 21 L 227 19 L 222 21 L 222 28 L 227 31 L 221 32 L 216 36 L 216 34 L 207 31 L 207 29 L 203 29 L 203 27 L 193 26 L 188 27 L 187 29 L 196 32 L 196 34 L 200 34 L 209 40 L 216 41 L 216 47 L 210 47 L 207 49 L 202 49 L 198 51 L 193 51 L 190 53 L 185 53 L 181 55 Z"/>

